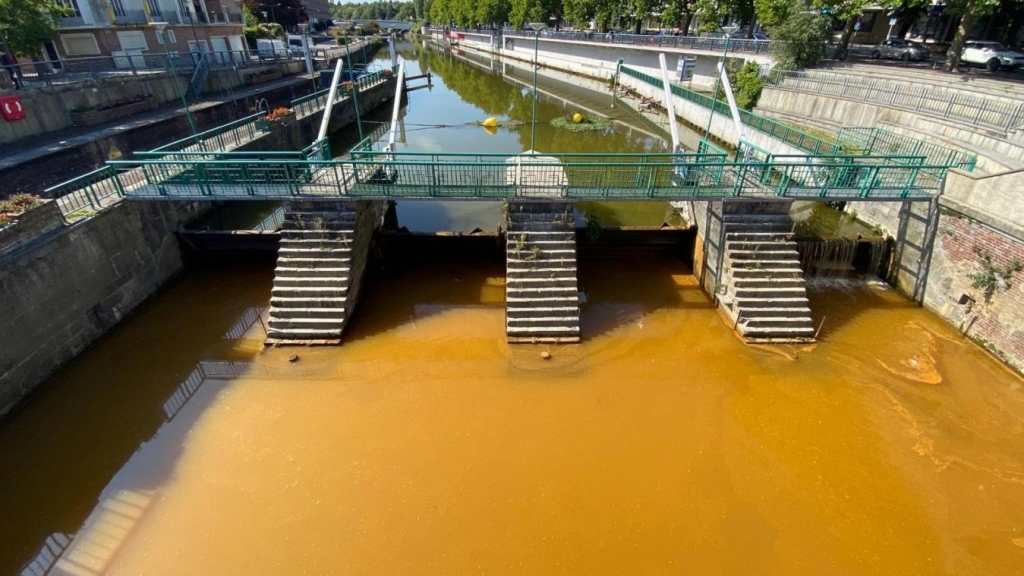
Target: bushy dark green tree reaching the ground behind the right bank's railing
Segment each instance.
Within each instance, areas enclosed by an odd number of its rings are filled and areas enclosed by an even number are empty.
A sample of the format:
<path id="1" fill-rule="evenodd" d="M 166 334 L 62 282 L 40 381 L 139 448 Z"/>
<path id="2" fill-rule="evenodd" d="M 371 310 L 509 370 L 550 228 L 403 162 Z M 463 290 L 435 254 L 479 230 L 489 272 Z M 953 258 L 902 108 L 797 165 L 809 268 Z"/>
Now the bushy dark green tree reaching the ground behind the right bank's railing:
<path id="1" fill-rule="evenodd" d="M 816 65 L 825 55 L 824 43 L 831 37 L 826 16 L 807 9 L 802 0 L 791 0 L 787 15 L 768 27 L 773 40 L 771 51 L 782 70 L 800 70 Z"/>

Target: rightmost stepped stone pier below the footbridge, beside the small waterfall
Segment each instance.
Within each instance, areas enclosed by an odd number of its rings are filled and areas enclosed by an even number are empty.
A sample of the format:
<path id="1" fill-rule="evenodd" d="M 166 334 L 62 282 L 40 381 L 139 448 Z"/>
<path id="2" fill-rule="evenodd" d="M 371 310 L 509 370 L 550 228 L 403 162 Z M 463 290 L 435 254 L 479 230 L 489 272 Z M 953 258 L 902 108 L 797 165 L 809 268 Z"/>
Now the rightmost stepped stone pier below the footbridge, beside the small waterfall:
<path id="1" fill-rule="evenodd" d="M 728 204 L 727 204 L 728 205 Z M 811 308 L 793 241 L 788 204 L 723 214 L 725 258 L 719 298 L 748 341 L 813 341 Z"/>

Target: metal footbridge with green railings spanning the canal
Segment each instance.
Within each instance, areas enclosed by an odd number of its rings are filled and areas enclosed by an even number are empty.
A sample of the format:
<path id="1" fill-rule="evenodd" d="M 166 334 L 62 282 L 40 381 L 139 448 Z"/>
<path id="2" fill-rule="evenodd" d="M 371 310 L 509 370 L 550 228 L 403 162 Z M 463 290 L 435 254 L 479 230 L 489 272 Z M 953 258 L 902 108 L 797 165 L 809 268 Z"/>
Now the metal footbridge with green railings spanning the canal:
<path id="1" fill-rule="evenodd" d="M 387 71 L 364 82 L 384 81 Z M 340 75 L 336 75 L 339 77 Z M 309 98 L 311 114 L 337 101 Z M 299 105 L 305 102 L 297 102 Z M 301 108 L 297 106 L 296 108 Z M 877 129 L 841 134 L 831 150 L 772 154 L 740 140 L 730 155 L 709 140 L 694 152 L 665 154 L 433 154 L 398 152 L 390 129 L 332 158 L 326 118 L 319 138 L 302 151 L 242 152 L 265 131 L 266 118 L 242 119 L 104 167 L 51 189 L 66 213 L 120 200 L 336 201 L 343 199 L 445 200 L 757 200 L 913 201 L 939 194 L 955 164 L 913 149 L 904 155 Z M 859 129 L 863 130 L 863 129 Z M 378 140 L 389 134 L 386 142 Z M 674 136 L 675 139 L 675 136 Z M 856 146 L 849 146 L 850 141 Z M 678 150 L 678 149 L 677 149 Z M 943 159 L 945 160 L 945 159 Z"/>

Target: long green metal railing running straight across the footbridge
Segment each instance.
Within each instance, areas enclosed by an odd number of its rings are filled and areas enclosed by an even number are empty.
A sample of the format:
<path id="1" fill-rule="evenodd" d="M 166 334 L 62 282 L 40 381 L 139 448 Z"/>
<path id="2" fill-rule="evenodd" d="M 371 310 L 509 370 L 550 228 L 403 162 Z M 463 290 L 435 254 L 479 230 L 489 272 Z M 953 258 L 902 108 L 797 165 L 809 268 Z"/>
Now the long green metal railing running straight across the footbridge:
<path id="1" fill-rule="evenodd" d="M 941 182 L 912 164 L 834 156 L 732 162 L 706 142 L 686 154 L 550 156 L 388 154 L 346 160 L 147 160 L 111 164 L 143 174 L 130 198 L 687 198 L 923 199 Z M 141 169 L 138 169 L 141 168 Z"/>

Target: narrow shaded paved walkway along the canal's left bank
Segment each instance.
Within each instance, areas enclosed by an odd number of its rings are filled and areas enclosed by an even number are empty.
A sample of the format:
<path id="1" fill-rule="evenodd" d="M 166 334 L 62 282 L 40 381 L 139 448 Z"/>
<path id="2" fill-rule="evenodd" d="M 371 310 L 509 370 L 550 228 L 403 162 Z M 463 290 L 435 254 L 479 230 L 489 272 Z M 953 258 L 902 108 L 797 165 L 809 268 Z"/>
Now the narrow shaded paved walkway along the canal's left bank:
<path id="1" fill-rule="evenodd" d="M 312 82 L 312 76 L 306 73 L 283 78 L 275 82 L 267 82 L 249 88 L 232 91 L 229 95 L 205 97 L 191 102 L 188 109 L 195 114 L 199 111 L 220 106 L 232 100 L 247 99 L 259 96 L 278 88 Z M 310 90 L 311 91 L 311 90 Z M 90 141 L 102 139 L 115 134 L 130 132 L 137 128 L 163 122 L 169 118 L 183 116 L 184 110 L 180 102 L 167 102 L 157 110 L 135 114 L 128 118 L 112 120 L 95 126 L 72 127 L 0 147 L 0 170 L 16 166 L 23 162 L 38 160 L 53 152 L 69 147 L 77 147 Z M 168 141 L 176 139 L 169 137 Z"/>

